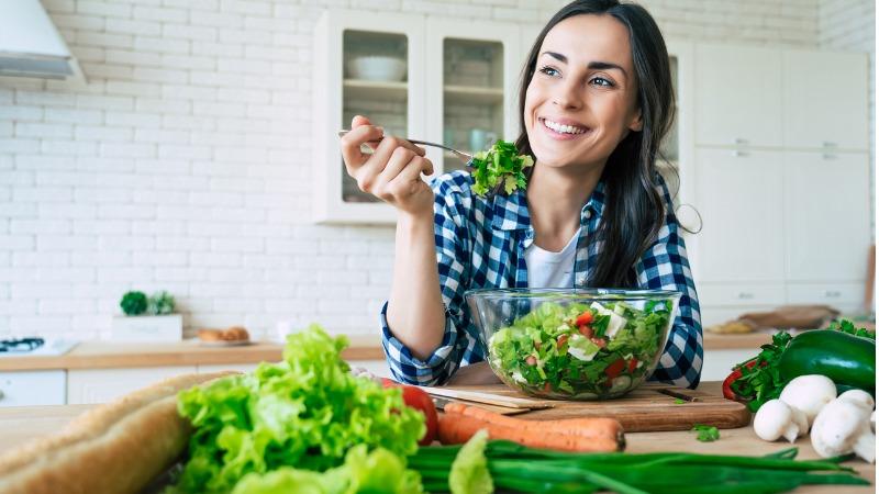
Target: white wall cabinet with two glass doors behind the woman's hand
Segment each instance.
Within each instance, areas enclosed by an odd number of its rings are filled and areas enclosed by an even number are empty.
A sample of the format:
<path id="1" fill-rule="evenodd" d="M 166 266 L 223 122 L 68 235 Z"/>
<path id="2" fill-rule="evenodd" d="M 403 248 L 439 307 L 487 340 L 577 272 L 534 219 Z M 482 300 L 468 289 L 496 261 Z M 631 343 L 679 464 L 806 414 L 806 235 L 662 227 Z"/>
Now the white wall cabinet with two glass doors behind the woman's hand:
<path id="1" fill-rule="evenodd" d="M 361 192 L 345 171 L 340 128 L 369 115 L 386 134 L 478 151 L 514 139 L 520 45 L 516 23 L 468 22 L 436 15 L 331 10 L 315 29 L 314 220 L 393 224 L 392 206 Z M 403 80 L 358 75 L 356 60 L 403 60 Z M 450 154 L 429 148 L 435 173 L 463 169 Z"/>

